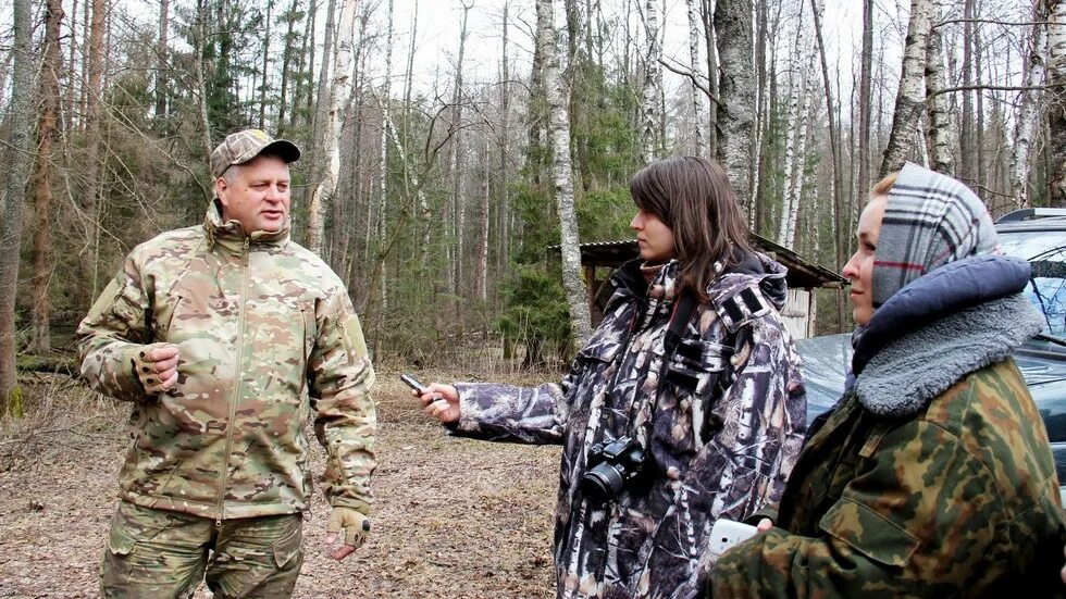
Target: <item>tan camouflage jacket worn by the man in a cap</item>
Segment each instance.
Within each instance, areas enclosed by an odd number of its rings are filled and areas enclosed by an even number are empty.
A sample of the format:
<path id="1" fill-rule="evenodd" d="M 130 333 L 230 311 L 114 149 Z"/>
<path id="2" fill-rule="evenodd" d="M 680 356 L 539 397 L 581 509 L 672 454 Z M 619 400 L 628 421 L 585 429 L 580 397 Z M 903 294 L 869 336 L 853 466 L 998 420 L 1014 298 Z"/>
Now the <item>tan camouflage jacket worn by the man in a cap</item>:
<path id="1" fill-rule="evenodd" d="M 136 247 L 77 337 L 89 385 L 133 402 L 123 499 L 218 520 L 301 511 L 313 410 L 327 499 L 369 511 L 362 330 L 344 285 L 287 227 L 249 237 L 212 205 L 203 226 Z M 178 380 L 149 397 L 132 358 L 152 342 L 177 346 Z"/>

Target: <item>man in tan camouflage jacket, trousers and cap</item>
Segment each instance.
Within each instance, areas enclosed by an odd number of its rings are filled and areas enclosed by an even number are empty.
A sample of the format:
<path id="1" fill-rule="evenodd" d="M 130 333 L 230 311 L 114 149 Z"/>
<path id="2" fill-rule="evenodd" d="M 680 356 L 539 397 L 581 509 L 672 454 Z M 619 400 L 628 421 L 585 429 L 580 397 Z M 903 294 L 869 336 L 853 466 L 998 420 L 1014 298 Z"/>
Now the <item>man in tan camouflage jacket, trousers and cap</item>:
<path id="1" fill-rule="evenodd" d="M 204 571 L 215 597 L 287 597 L 312 411 L 331 532 L 347 533 L 334 557 L 370 529 L 374 373 L 344 285 L 289 239 L 298 158 L 260 130 L 227 137 L 203 225 L 136 247 L 78 328 L 85 379 L 133 403 L 107 597 L 189 596 Z"/>

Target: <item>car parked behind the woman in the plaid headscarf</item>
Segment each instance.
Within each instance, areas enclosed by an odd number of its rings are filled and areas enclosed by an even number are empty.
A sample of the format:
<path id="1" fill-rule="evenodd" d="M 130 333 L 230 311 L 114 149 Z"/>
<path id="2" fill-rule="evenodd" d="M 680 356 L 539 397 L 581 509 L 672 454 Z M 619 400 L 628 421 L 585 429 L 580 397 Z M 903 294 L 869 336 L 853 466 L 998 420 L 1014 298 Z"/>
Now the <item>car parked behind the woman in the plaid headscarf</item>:
<path id="1" fill-rule="evenodd" d="M 1040 410 L 1055 456 L 1059 491 L 1066 499 L 1066 210 L 1027 209 L 995 224 L 1008 255 L 1029 261 L 1026 296 L 1044 315 L 1044 329 L 1018 348 L 1014 359 Z M 844 391 L 852 362 L 851 335 L 796 341 L 807 384 L 807 421 L 832 408 Z"/>

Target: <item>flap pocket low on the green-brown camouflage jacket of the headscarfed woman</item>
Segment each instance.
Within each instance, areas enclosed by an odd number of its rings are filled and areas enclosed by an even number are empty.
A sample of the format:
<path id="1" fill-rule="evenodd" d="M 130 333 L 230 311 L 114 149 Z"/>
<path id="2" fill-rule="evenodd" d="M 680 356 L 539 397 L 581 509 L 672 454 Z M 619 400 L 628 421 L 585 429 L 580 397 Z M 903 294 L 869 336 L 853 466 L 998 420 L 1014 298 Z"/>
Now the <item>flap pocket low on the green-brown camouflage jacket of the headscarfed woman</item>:
<path id="1" fill-rule="evenodd" d="M 818 522 L 826 534 L 884 565 L 902 567 L 918 549 L 918 539 L 884 515 L 843 498 Z"/>

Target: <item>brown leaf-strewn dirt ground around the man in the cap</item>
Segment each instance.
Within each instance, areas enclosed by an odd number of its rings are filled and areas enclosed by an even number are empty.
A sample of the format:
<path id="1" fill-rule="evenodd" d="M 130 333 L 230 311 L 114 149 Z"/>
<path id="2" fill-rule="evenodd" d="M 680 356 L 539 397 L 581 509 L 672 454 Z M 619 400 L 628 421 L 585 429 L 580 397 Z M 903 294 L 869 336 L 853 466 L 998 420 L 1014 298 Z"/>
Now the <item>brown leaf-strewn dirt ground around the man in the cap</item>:
<path id="1" fill-rule="evenodd" d="M 558 448 L 448 437 L 396 373 L 379 380 L 374 531 L 344 562 L 324 557 L 317 490 L 295 597 L 554 597 Z M 0 597 L 96 597 L 128 407 L 55 379 L 30 396 L 29 417 L 0 425 Z"/>

